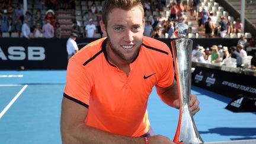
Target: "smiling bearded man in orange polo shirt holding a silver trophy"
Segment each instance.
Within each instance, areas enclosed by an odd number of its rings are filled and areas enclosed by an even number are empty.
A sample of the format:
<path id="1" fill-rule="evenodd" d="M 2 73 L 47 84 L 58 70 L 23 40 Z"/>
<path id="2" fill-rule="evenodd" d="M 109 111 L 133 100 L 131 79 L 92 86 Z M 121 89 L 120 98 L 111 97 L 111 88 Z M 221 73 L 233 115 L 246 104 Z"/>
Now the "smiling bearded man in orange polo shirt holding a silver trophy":
<path id="1" fill-rule="evenodd" d="M 153 135 L 146 107 L 155 86 L 159 97 L 179 108 L 172 56 L 167 44 L 143 36 L 139 0 L 106 0 L 96 40 L 69 59 L 62 101 L 63 143 L 173 143 Z M 199 111 L 191 95 L 190 111 Z"/>

